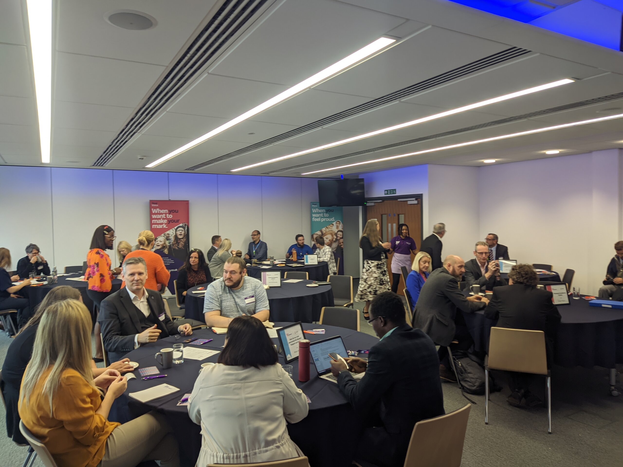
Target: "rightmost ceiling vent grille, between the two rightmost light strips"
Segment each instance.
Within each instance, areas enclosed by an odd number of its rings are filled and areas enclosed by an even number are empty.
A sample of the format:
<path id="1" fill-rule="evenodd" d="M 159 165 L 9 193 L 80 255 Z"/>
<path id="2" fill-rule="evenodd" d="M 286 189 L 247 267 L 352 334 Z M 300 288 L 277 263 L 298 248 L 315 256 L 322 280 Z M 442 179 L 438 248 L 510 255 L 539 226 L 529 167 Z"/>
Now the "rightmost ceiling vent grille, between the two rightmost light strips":
<path id="1" fill-rule="evenodd" d="M 611 94 L 607 96 L 602 96 L 602 97 L 596 97 L 594 99 L 574 102 L 571 104 L 561 105 L 558 107 L 552 107 L 552 108 L 548 108 L 545 110 L 538 110 L 538 111 L 531 112 L 531 113 L 524 113 L 523 115 L 502 118 L 501 120 L 490 121 L 488 123 L 481 123 L 480 125 L 466 126 L 465 128 L 459 128 L 459 130 L 445 131 L 444 133 L 430 134 L 429 136 L 422 136 L 421 138 L 407 139 L 407 141 L 400 141 L 399 143 L 386 144 L 385 146 L 378 146 L 377 148 L 364 149 L 363 151 L 357 151 L 356 153 L 343 154 L 341 156 L 335 156 L 333 158 L 323 159 L 321 161 L 315 161 L 313 163 L 298 164 L 297 166 L 284 167 L 282 169 L 273 170 L 270 172 L 264 172 L 263 175 L 280 174 L 283 172 L 289 172 L 289 171 L 293 171 L 296 169 L 302 169 L 303 167 L 317 166 L 318 164 L 325 164 L 328 162 L 339 161 L 341 159 L 352 158 L 354 156 L 361 156 L 361 154 L 376 153 L 378 151 L 383 151 L 384 149 L 399 148 L 400 146 L 406 146 L 407 144 L 421 143 L 422 141 L 429 141 L 430 139 L 436 139 L 436 138 L 444 138 L 445 136 L 452 136 L 453 134 L 466 133 L 467 131 L 482 130 L 483 128 L 490 128 L 492 126 L 504 125 L 505 123 L 513 123 L 519 120 L 526 120 L 529 118 L 549 115 L 551 113 L 558 113 L 558 112 L 562 112 L 565 110 L 573 110 L 579 107 L 584 107 L 587 105 L 595 105 L 598 103 L 617 100 L 617 99 L 623 99 L 623 92 L 620 92 L 617 94 Z"/>

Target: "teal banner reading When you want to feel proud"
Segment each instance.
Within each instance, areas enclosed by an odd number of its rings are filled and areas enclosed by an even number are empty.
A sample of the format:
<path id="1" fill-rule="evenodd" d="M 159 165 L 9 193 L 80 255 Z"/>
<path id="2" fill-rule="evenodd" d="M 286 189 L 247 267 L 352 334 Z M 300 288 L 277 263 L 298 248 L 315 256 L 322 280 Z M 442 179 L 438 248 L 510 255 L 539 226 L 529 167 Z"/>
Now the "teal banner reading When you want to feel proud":
<path id="1" fill-rule="evenodd" d="M 344 274 L 344 224 L 341 207 L 320 207 L 318 202 L 311 204 L 312 215 L 312 250 L 315 252 L 316 238 L 322 237 L 325 248 L 329 247 L 335 256 L 335 263 L 340 258 L 338 274 Z"/>

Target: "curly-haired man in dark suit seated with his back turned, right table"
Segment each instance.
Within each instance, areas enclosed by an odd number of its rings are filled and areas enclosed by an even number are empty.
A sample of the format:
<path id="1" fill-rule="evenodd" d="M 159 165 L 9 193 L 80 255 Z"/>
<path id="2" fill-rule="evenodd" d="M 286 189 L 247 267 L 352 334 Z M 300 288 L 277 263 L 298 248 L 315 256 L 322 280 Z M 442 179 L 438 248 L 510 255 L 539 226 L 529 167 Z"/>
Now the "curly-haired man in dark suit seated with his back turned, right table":
<path id="1" fill-rule="evenodd" d="M 493 297 L 485 309 L 485 316 L 497 319 L 498 328 L 530 329 L 545 333 L 548 350 L 548 364 L 551 366 L 551 352 L 560 313 L 552 301 L 552 293 L 536 288 L 538 276 L 532 265 L 520 264 L 508 273 L 509 285 L 493 289 Z M 530 392 L 534 375 L 510 373 L 511 395 L 506 399 L 510 405 L 536 407 L 542 402 Z M 523 400 L 522 400 L 523 399 Z"/>

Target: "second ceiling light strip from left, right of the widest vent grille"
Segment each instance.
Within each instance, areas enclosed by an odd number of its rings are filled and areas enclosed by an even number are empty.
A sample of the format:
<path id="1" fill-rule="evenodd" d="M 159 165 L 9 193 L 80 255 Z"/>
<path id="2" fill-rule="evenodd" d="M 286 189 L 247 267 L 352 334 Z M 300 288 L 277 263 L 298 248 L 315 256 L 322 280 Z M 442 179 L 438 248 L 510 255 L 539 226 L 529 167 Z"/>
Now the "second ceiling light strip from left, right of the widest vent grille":
<path id="1" fill-rule="evenodd" d="M 357 62 L 361 62 L 361 60 L 370 57 L 371 55 L 375 54 L 381 49 L 384 49 L 385 47 L 388 47 L 388 45 L 393 44 L 394 42 L 396 42 L 396 39 L 391 39 L 390 37 L 381 37 L 380 39 L 375 40 L 371 44 L 366 45 L 366 47 L 363 47 L 363 49 L 357 50 L 353 54 L 348 55 L 348 57 L 341 59 L 339 62 L 336 62 L 330 67 L 327 67 L 324 70 L 321 70 L 320 72 L 307 78 L 306 80 L 303 80 L 297 85 L 294 85 L 293 87 L 288 88 L 287 90 L 276 95 L 275 97 L 265 101 L 264 103 L 261 103 L 258 106 L 255 106 L 254 108 L 252 108 L 249 111 L 246 111 L 242 115 L 237 116 L 233 120 L 230 120 L 227 123 L 224 123 L 223 125 L 219 126 L 218 128 L 215 128 L 214 130 L 209 131 L 209 133 L 206 133 L 203 136 L 199 136 L 199 138 L 193 139 L 193 141 L 191 141 L 190 143 L 184 144 L 184 146 L 182 146 L 181 148 L 176 149 L 172 153 L 166 154 L 166 156 L 163 156 L 159 158 L 157 161 L 154 161 L 153 163 L 148 164 L 146 167 L 156 167 L 159 164 L 162 164 L 164 161 L 168 161 L 168 159 L 174 158 L 175 156 L 178 156 L 184 151 L 188 151 L 188 149 L 194 148 L 194 146 L 197 146 L 197 144 L 201 144 L 204 141 L 207 141 L 207 139 L 212 138 L 212 136 L 216 136 L 217 134 L 222 133 L 222 131 L 225 131 L 228 128 L 231 128 L 232 126 L 237 125 L 241 121 L 247 120 L 248 118 L 251 118 L 252 116 L 257 115 L 258 113 L 264 110 L 267 110 L 270 107 L 275 106 L 278 103 L 281 103 L 282 101 L 285 101 L 289 99 L 290 97 L 293 97 L 294 95 L 317 85 L 320 82 L 325 81 L 326 79 L 332 77 L 333 75 L 336 75 L 337 73 L 342 72 L 346 68 L 351 67 Z"/>

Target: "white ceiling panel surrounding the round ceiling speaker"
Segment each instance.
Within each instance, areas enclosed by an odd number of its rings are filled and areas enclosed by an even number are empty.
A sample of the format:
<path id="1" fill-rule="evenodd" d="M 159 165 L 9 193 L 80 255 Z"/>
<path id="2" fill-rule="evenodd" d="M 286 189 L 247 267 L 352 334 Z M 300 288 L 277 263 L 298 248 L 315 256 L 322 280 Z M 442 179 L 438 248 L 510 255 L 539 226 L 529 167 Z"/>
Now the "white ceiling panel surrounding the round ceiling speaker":
<path id="1" fill-rule="evenodd" d="M 168 65 L 215 3 L 215 0 L 62 0 L 58 50 Z M 153 29 L 129 31 L 105 19 L 111 12 L 128 9 L 153 16 L 158 24 Z"/>

